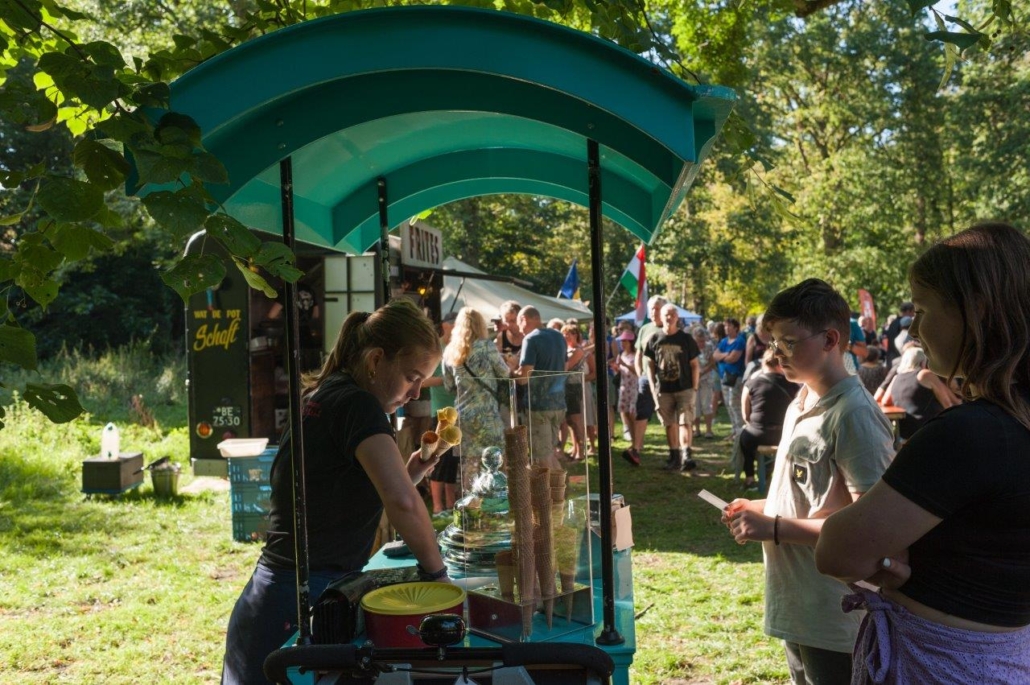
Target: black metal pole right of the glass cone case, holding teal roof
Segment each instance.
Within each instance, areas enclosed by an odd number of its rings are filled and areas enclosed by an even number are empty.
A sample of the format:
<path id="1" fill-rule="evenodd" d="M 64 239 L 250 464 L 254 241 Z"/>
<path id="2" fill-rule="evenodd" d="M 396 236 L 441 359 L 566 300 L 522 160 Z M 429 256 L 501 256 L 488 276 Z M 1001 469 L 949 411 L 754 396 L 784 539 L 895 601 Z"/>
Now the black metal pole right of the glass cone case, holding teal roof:
<path id="1" fill-rule="evenodd" d="M 593 358 L 597 369 L 597 469 L 600 498 L 600 592 L 605 624 L 598 645 L 621 645 L 615 627 L 615 561 L 612 558 L 612 434 L 608 421 L 608 346 L 605 327 L 605 242 L 602 239 L 600 150 L 596 140 L 586 142 L 590 195 L 590 276 L 593 280 Z"/>

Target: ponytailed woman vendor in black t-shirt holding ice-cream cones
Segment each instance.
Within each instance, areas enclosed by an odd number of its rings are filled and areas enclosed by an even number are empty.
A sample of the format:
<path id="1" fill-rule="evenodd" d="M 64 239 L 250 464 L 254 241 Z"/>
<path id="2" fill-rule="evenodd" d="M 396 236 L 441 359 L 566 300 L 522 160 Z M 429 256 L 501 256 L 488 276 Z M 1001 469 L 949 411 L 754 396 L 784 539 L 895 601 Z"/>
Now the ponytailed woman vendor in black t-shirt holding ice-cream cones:
<path id="1" fill-rule="evenodd" d="M 428 512 L 415 483 L 433 470 L 398 451 L 386 415 L 417 398 L 440 361 L 440 340 L 408 300 L 373 314 L 352 312 L 321 371 L 305 378 L 309 595 L 368 561 L 385 509 L 418 559 L 423 578 L 446 580 Z M 272 465 L 268 542 L 233 608 L 222 683 L 268 682 L 265 657 L 297 630 L 294 488 L 289 436 Z"/>

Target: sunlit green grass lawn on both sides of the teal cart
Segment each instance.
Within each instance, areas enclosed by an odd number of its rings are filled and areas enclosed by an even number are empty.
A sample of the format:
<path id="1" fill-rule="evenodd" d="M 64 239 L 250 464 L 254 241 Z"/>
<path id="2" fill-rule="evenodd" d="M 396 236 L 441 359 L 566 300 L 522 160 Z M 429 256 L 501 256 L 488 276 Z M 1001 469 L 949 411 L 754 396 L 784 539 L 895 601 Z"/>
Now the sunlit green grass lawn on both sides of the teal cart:
<path id="1" fill-rule="evenodd" d="M 4 402 L 0 682 L 217 681 L 229 613 L 260 552 L 232 541 L 228 492 L 161 500 L 149 479 L 118 498 L 78 491 L 80 463 L 99 450 L 108 420 L 146 463 L 167 454 L 187 464 L 184 399 L 156 396 L 156 378 L 168 373 L 138 373 L 146 389 L 136 391 L 154 398 L 156 429 L 133 423 L 123 402 L 88 405 L 91 415 L 64 425 Z M 644 464 L 632 468 L 615 443 L 615 490 L 633 508 L 643 614 L 631 681 L 785 682 L 782 648 L 761 631 L 761 549 L 733 543 L 696 496 L 701 488 L 727 501 L 742 494 L 724 473 L 729 443 L 698 441 L 700 468 L 689 475 L 661 470 L 663 444 L 652 425 Z M 184 470 L 180 489 L 191 480 Z"/>

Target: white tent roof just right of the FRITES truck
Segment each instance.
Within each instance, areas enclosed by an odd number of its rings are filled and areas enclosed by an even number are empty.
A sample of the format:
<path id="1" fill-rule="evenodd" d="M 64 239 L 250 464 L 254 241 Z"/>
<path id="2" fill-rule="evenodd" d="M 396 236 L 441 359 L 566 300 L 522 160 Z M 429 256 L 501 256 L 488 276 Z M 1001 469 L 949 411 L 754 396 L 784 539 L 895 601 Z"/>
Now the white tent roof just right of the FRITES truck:
<path id="1" fill-rule="evenodd" d="M 551 318 L 562 320 L 575 318 L 584 321 L 593 318 L 590 308 L 578 300 L 539 295 L 514 283 L 449 276 L 446 273 L 448 270 L 486 275 L 485 271 L 470 267 L 453 256 L 444 259 L 443 269 L 444 289 L 440 293 L 440 313 L 442 315 L 446 315 L 452 308 L 456 312 L 461 307 L 472 307 L 489 320 L 497 316 L 497 307 L 501 303 L 514 300 L 523 307 L 533 305 L 540 310 L 540 316 L 545 323 Z"/>

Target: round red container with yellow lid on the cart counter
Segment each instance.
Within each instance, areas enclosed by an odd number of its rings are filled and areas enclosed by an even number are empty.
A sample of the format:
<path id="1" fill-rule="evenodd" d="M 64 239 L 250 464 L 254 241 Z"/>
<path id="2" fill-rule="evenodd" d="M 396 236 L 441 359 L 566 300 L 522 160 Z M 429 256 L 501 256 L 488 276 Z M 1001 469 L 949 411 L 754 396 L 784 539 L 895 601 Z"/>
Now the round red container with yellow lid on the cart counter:
<path id="1" fill-rule="evenodd" d="M 362 597 L 365 631 L 376 647 L 425 647 L 417 631 L 430 614 L 461 614 L 465 590 L 450 583 L 399 583 Z M 414 632 L 414 633 L 413 633 Z"/>

